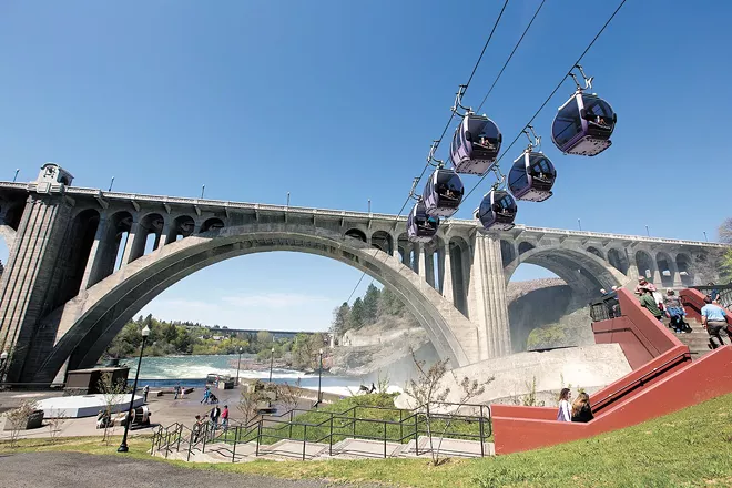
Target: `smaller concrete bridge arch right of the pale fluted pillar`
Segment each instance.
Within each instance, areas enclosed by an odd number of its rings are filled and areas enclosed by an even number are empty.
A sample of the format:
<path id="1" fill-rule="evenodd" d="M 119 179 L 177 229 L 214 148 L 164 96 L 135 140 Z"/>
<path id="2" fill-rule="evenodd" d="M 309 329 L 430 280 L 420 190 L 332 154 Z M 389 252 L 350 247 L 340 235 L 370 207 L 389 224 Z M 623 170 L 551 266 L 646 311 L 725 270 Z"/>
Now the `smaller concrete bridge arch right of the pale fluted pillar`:
<path id="1" fill-rule="evenodd" d="M 521 263 L 545 267 L 562 278 L 577 296 L 597 295 L 600 288 L 622 286 L 628 277 L 592 252 L 560 246 L 533 247 L 505 266 L 506 283 Z"/>

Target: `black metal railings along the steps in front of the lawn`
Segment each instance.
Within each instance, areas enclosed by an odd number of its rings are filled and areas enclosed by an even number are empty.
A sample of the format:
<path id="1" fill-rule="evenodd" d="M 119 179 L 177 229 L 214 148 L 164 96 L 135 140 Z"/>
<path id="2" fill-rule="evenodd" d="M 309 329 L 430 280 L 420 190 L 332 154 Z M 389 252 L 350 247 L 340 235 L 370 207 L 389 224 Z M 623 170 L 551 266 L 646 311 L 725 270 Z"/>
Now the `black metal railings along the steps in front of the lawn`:
<path id="1" fill-rule="evenodd" d="M 468 408 L 471 415 L 447 414 L 438 409 Z M 309 414 L 309 421 L 298 420 L 296 415 Z M 316 417 L 313 419 L 312 417 Z M 380 417 L 380 418 L 375 418 Z M 186 459 L 195 451 L 205 453 L 206 446 L 215 445 L 220 455 L 235 462 L 236 449 L 241 445 L 254 445 L 254 455 L 278 440 L 302 443 L 302 460 L 307 459 L 308 444 L 328 444 L 328 454 L 340 440 L 366 439 L 383 443 L 383 457 L 389 457 L 388 443 L 406 444 L 415 441 L 415 454 L 419 456 L 420 435 L 433 438 L 477 440 L 480 455 L 486 455 L 485 446 L 492 437 L 490 408 L 478 404 L 451 404 L 435 401 L 420 405 L 413 410 L 395 407 L 354 406 L 343 411 L 307 410 L 293 408 L 281 415 L 262 415 L 248 424 L 232 421 L 227 427 L 212 423 L 199 424 L 193 429 L 182 424 L 160 426 L 153 434 L 151 454 L 163 453 L 167 457 L 171 450 L 187 450 Z M 425 450 L 423 450 L 424 454 Z"/>

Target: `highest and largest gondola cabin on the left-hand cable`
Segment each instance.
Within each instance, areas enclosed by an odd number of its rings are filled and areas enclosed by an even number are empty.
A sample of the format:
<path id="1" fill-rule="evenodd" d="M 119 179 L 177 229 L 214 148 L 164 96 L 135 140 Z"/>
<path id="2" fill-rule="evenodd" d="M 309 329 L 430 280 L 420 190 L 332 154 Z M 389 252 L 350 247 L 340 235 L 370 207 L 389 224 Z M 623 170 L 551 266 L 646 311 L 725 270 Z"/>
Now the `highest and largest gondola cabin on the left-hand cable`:
<path id="1" fill-rule="evenodd" d="M 502 136 L 486 115 L 468 113 L 455 130 L 450 159 L 457 173 L 485 174 L 496 162 Z"/>

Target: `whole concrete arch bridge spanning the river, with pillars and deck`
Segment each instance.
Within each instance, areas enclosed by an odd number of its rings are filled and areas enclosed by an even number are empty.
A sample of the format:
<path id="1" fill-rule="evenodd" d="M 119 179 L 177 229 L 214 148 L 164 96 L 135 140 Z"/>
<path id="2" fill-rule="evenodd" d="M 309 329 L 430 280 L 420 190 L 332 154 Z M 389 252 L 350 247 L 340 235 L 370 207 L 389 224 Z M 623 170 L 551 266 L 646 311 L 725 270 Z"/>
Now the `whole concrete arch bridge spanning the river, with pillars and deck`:
<path id="1" fill-rule="evenodd" d="M 451 220 L 413 244 L 395 215 L 104 192 L 71 186 L 55 164 L 30 183 L 0 182 L 6 380 L 51 382 L 93 366 L 145 304 L 214 263 L 292 251 L 354 266 L 398 294 L 454 366 L 511 353 L 506 284 L 521 263 L 578 294 L 639 275 L 663 286 L 715 278 L 721 244 Z M 121 255 L 121 258 L 118 256 Z"/>

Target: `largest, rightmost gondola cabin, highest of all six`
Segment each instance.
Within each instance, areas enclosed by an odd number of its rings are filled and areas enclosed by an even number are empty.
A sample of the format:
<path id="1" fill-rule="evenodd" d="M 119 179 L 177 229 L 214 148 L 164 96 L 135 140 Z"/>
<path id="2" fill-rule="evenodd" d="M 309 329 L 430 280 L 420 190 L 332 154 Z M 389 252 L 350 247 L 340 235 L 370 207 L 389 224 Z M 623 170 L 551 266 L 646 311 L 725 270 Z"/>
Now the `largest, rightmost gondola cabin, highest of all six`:
<path id="1" fill-rule="evenodd" d="M 610 148 L 618 115 L 608 102 L 578 91 L 560 109 L 551 124 L 551 139 L 566 154 L 594 156 Z"/>

